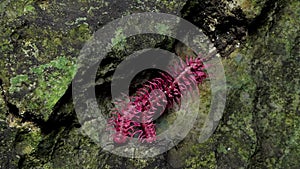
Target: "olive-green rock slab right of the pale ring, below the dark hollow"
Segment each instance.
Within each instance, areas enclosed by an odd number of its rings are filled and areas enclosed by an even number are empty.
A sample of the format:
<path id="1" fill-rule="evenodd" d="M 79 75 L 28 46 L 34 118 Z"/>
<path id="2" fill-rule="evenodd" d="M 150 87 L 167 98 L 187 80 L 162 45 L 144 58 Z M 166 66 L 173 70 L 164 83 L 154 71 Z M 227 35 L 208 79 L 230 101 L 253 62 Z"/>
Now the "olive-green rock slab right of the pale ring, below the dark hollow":
<path id="1" fill-rule="evenodd" d="M 223 61 L 225 114 L 211 140 L 193 146 L 198 155 L 187 160 L 192 168 L 300 165 L 299 2 L 267 3 L 259 8 L 270 13 L 248 21 L 247 40 Z"/>

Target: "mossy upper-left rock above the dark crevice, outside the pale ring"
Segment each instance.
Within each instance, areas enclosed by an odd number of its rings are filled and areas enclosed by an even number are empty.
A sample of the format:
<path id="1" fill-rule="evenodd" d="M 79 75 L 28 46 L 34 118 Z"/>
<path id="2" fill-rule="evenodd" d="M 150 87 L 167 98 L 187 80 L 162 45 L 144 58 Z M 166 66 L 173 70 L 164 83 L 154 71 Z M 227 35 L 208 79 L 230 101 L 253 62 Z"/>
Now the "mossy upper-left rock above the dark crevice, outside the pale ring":
<path id="1" fill-rule="evenodd" d="M 21 116 L 47 121 L 76 73 L 80 49 L 100 25 L 138 11 L 178 14 L 183 5 L 184 1 L 175 0 L 1 2 L 0 44 L 5 59 L 0 61 L 0 78 L 7 100 Z M 148 39 L 154 47 L 165 38 Z M 124 57 L 124 53 L 114 55 Z"/>

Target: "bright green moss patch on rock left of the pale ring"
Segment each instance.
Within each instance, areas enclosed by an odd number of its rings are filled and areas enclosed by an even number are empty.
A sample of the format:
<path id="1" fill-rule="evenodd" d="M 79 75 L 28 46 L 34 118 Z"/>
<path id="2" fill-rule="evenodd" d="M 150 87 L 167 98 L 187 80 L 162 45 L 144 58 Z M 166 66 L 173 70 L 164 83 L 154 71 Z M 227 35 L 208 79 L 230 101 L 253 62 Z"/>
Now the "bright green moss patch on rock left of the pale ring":
<path id="1" fill-rule="evenodd" d="M 35 112 L 46 120 L 67 90 L 75 72 L 74 60 L 58 57 L 47 64 L 30 68 L 28 74 L 11 78 L 9 92 L 19 92 L 24 88 L 22 85 L 29 86 L 27 88 L 33 92 L 25 95 L 19 107 L 24 111 Z"/>

